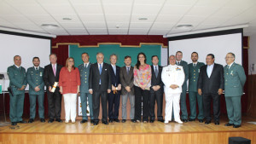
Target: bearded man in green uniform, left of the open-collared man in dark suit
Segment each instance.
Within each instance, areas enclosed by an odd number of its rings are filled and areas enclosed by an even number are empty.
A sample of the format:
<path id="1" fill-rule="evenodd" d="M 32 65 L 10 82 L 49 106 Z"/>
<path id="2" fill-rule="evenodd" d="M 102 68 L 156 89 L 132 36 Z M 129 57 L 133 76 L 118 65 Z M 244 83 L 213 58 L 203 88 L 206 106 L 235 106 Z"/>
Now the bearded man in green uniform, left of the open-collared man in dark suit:
<path id="1" fill-rule="evenodd" d="M 192 63 L 189 64 L 189 106 L 190 106 L 190 117 L 189 121 L 195 121 L 196 118 L 196 99 L 198 104 L 198 121 L 203 122 L 204 113 L 203 113 L 203 103 L 202 95 L 197 93 L 197 80 L 199 77 L 200 67 L 205 64 L 198 62 L 198 54 L 193 52 L 191 54 Z"/>

